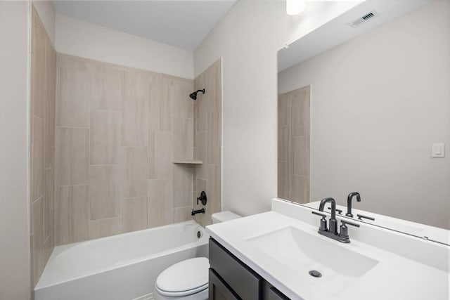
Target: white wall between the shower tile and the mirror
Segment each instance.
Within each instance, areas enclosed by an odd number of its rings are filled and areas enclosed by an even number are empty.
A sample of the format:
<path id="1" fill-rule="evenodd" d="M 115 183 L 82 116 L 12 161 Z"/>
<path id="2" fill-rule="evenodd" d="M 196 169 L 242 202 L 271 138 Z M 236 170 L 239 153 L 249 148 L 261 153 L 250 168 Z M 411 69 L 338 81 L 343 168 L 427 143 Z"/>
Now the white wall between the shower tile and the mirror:
<path id="1" fill-rule="evenodd" d="M 223 209 L 270 210 L 277 189 L 277 51 L 356 2 L 238 1 L 194 51 L 195 76 L 223 57 Z"/>

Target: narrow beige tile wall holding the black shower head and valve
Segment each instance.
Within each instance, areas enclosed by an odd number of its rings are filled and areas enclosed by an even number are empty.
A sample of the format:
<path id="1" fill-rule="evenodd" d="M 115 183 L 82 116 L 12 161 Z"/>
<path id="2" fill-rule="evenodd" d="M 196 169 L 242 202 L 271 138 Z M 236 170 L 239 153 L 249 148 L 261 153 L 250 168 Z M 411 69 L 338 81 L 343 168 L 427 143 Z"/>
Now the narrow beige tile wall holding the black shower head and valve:
<path id="1" fill-rule="evenodd" d="M 195 100 L 194 124 L 194 158 L 203 161 L 195 167 L 194 207 L 205 208 L 205 214 L 195 215 L 195 220 L 203 226 L 211 223 L 211 215 L 221 211 L 221 60 L 200 74 L 194 80 L 195 91 L 205 89 L 205 94 L 198 93 Z M 201 191 L 207 194 L 204 207 L 196 198 Z"/>

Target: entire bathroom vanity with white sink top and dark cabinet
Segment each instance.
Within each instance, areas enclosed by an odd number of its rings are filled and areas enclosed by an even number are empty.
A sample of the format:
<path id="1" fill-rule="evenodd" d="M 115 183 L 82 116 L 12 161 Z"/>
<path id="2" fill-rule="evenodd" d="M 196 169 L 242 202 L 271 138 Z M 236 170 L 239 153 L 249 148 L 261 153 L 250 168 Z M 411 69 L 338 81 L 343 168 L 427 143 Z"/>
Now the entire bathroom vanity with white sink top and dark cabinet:
<path id="1" fill-rule="evenodd" d="M 210 299 L 449 299 L 448 245 L 362 222 L 345 244 L 319 235 L 312 211 L 272 200 L 207 226 Z"/>

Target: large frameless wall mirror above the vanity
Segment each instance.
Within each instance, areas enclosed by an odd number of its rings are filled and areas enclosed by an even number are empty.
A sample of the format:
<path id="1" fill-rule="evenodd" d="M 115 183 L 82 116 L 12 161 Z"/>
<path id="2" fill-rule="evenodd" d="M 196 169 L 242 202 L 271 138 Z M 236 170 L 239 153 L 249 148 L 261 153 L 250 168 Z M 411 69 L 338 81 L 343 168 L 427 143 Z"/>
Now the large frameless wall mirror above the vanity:
<path id="1" fill-rule="evenodd" d="M 449 229 L 449 12 L 368 0 L 278 51 L 278 197 Z"/>

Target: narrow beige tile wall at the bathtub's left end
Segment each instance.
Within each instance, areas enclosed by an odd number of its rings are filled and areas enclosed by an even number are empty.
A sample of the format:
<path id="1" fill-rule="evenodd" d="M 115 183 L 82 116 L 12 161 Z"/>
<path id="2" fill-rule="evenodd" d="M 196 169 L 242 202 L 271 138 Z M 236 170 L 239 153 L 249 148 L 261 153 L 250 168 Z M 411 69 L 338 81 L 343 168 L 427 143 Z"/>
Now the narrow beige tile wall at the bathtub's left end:
<path id="1" fill-rule="evenodd" d="M 32 284 L 36 285 L 54 245 L 54 146 L 56 51 L 32 8 L 31 107 L 31 256 Z"/>

